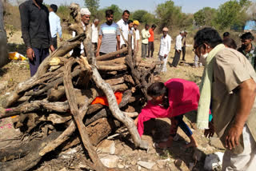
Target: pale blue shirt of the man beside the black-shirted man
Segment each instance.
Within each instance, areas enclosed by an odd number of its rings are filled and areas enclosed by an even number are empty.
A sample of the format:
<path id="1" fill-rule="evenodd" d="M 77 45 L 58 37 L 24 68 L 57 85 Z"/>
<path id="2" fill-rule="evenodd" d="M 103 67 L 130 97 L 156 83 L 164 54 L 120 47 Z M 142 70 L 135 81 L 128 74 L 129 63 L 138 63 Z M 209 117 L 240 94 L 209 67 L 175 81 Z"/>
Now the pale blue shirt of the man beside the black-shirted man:
<path id="1" fill-rule="evenodd" d="M 49 14 L 49 22 L 50 22 L 50 34 L 52 38 L 56 38 L 57 33 L 59 38 L 62 38 L 62 26 L 61 20 L 53 11 Z"/>

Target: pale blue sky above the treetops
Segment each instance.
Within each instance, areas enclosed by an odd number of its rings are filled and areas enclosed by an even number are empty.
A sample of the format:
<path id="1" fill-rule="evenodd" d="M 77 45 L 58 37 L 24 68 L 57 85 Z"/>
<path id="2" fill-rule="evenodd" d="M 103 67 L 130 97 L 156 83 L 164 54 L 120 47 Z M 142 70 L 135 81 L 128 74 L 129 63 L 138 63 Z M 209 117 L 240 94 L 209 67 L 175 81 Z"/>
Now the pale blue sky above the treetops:
<path id="1" fill-rule="evenodd" d="M 22 0 L 10 0 L 17 2 Z M 201 10 L 203 7 L 210 6 L 211 8 L 218 8 L 224 2 L 229 0 L 173 0 L 176 6 L 182 6 L 182 12 L 195 13 Z M 46 4 L 54 3 L 56 5 L 70 5 L 70 2 L 78 3 L 80 6 L 84 6 L 84 0 L 44 0 Z M 100 8 L 110 6 L 112 4 L 118 5 L 122 10 L 147 10 L 150 13 L 154 13 L 154 10 L 159 3 L 166 2 L 166 0 L 100 0 Z M 256 2 L 256 0 L 253 0 Z"/>

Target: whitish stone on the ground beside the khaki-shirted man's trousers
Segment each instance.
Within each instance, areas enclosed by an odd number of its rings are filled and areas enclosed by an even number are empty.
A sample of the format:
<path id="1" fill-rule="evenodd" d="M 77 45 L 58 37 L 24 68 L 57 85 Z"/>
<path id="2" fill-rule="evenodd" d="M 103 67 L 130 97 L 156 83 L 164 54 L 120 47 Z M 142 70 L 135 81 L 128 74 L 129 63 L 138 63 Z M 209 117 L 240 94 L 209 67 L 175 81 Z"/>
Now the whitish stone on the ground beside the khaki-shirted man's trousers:
<path id="1" fill-rule="evenodd" d="M 222 158 L 224 156 L 224 153 L 217 152 L 217 153 L 211 153 L 206 156 L 205 165 L 203 168 L 205 170 L 214 170 L 219 169 L 222 166 Z"/>

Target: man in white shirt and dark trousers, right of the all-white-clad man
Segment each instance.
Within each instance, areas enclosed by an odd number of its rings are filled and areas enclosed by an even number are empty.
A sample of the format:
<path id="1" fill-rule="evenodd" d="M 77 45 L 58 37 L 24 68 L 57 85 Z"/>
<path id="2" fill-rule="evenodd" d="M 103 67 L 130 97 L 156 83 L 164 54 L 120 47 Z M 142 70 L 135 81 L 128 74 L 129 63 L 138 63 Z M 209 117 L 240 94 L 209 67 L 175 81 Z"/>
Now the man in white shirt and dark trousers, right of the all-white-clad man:
<path id="1" fill-rule="evenodd" d="M 174 54 L 174 60 L 171 64 L 171 66 L 177 67 L 179 59 L 181 58 L 182 53 L 182 37 L 184 35 L 184 31 L 181 31 L 180 34 L 176 37 L 176 45 L 175 45 L 175 54 Z"/>

